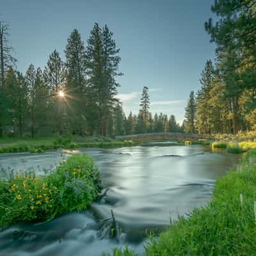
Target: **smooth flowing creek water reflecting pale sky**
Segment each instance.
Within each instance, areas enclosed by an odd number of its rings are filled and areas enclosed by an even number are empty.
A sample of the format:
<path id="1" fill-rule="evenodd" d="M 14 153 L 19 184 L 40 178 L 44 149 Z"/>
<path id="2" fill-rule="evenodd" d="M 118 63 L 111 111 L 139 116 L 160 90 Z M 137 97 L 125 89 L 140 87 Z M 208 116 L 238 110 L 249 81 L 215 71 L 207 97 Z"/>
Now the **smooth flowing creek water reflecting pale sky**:
<path id="1" fill-rule="evenodd" d="M 211 200 L 216 179 L 241 156 L 213 153 L 202 145 L 152 144 L 115 149 L 81 148 L 44 154 L 1 154 L 0 169 L 52 169 L 75 153 L 93 157 L 108 193 L 82 212 L 70 212 L 42 224 L 18 223 L 0 232 L 0 255 L 99 256 L 125 246 L 143 255 L 148 230 L 161 230 Z M 39 168 L 40 166 L 40 168 Z M 40 171 L 41 170 L 41 171 Z M 0 174 L 1 175 L 1 174 Z M 100 238 L 100 220 L 120 225 L 120 240 Z"/>

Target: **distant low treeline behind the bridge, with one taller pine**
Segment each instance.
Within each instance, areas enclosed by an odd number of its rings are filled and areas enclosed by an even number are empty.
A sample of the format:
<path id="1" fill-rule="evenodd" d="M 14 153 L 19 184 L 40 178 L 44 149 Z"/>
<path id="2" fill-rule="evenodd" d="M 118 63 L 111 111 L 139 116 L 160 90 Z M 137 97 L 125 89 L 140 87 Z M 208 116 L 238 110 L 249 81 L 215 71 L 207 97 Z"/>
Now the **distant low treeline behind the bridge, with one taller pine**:
<path id="1" fill-rule="evenodd" d="M 150 100 L 148 95 L 148 87 L 143 87 L 141 94 L 140 111 L 138 115 L 132 115 L 129 113 L 127 118 L 125 117 L 122 105 L 118 105 L 116 108 L 116 120 L 115 120 L 115 135 L 125 134 L 143 134 L 150 132 L 183 132 L 184 125 L 177 123 L 175 116 L 164 115 L 157 113 L 153 116 L 149 111 Z M 110 132 L 111 134 L 111 132 Z"/>

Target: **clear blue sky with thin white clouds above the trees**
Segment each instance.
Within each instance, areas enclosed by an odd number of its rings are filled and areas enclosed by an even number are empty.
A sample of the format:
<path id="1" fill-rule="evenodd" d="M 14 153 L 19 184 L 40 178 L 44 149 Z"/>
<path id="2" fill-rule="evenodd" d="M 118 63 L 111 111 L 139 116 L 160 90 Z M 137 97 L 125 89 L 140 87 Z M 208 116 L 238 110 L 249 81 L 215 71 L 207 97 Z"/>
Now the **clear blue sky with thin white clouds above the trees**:
<path id="1" fill-rule="evenodd" d="M 204 30 L 213 0 L 0 0 L 0 20 L 10 25 L 17 67 L 44 68 L 56 49 L 64 49 L 73 29 L 84 44 L 93 24 L 107 24 L 120 48 L 125 114 L 138 113 L 143 86 L 148 86 L 150 112 L 175 115 L 179 123 L 189 92 L 200 88 L 200 73 L 214 61 L 214 44 Z"/>

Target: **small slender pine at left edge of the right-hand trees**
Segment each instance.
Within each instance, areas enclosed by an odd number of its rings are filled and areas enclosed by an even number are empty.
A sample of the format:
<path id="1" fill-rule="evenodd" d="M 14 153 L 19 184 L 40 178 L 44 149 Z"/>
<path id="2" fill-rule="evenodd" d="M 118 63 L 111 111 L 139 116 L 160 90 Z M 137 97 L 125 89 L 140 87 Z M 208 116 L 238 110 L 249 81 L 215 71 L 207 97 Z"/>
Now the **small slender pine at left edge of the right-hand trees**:
<path id="1" fill-rule="evenodd" d="M 188 104 L 185 110 L 185 132 L 195 133 L 196 102 L 193 91 L 191 91 L 189 94 Z"/>

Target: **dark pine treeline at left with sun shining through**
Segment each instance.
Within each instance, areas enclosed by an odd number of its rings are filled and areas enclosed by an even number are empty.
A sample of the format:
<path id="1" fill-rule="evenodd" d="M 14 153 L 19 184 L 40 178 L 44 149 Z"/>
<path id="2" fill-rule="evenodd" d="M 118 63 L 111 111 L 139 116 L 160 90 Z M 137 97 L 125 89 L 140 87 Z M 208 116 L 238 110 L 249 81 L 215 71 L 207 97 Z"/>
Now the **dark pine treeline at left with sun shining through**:
<path id="1" fill-rule="evenodd" d="M 15 67 L 9 29 L 0 23 L 0 136 L 58 132 L 106 136 L 118 100 L 120 56 L 108 26 L 95 23 L 84 45 L 77 29 L 67 39 L 65 61 L 54 50 L 44 70 Z"/>

